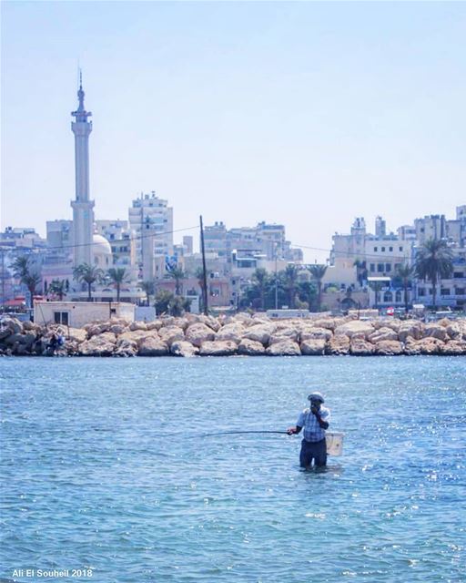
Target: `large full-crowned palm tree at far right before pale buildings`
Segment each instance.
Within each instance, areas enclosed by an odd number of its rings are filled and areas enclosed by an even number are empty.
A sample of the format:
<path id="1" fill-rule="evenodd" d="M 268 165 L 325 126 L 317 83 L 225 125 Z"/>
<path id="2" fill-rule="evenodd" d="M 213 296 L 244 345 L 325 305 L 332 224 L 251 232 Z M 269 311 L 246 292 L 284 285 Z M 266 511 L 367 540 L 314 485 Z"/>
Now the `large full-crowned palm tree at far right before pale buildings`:
<path id="1" fill-rule="evenodd" d="M 446 240 L 429 239 L 418 251 L 415 263 L 416 275 L 432 284 L 433 309 L 437 307 L 437 282 L 451 277 L 453 253 Z"/>

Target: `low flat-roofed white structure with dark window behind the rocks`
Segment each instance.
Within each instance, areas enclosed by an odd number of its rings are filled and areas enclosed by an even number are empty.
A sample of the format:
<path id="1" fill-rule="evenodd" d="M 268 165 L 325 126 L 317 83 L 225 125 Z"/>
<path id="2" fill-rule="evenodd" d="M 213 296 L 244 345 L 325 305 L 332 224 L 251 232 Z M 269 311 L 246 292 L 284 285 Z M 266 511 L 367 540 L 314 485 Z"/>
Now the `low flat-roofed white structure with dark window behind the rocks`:
<path id="1" fill-rule="evenodd" d="M 72 328 L 110 318 L 133 322 L 135 307 L 133 303 L 123 302 L 34 302 L 34 322 L 64 324 Z"/>

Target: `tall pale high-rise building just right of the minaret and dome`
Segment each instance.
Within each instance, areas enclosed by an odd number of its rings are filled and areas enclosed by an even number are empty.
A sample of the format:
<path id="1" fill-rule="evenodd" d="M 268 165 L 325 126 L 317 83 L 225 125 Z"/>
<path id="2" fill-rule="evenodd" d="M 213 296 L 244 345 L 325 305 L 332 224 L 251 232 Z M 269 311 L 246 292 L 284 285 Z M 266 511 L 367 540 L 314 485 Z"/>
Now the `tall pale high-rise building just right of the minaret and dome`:
<path id="1" fill-rule="evenodd" d="M 141 193 L 129 209 L 129 227 L 136 241 L 138 279 L 163 277 L 165 261 L 173 258 L 173 209 L 167 200 L 159 199 L 154 191 Z"/>

